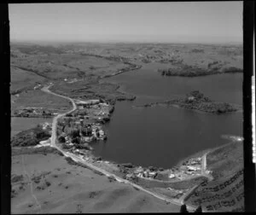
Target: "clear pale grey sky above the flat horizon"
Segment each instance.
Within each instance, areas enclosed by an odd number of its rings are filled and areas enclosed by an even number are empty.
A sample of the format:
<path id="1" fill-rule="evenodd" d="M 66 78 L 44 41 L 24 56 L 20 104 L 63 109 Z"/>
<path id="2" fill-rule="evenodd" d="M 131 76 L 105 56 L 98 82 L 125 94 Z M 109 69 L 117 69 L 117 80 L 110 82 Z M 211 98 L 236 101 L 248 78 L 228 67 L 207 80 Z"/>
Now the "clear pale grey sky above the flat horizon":
<path id="1" fill-rule="evenodd" d="M 242 43 L 242 2 L 9 4 L 11 41 Z"/>

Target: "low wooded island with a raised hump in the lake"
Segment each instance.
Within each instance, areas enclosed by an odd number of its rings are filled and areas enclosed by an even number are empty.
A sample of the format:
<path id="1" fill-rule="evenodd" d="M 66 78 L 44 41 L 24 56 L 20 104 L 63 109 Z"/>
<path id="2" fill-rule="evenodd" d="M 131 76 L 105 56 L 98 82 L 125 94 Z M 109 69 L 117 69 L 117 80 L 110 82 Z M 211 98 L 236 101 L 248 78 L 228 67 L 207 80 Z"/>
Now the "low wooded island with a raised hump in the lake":
<path id="1" fill-rule="evenodd" d="M 165 105 L 178 108 L 187 108 L 204 113 L 230 113 L 241 111 L 241 105 L 230 104 L 227 102 L 214 102 L 207 96 L 204 96 L 200 91 L 195 90 L 190 92 L 185 98 L 172 99 L 166 102 L 154 102 L 136 106 L 137 108 L 148 108 L 156 105 Z"/>

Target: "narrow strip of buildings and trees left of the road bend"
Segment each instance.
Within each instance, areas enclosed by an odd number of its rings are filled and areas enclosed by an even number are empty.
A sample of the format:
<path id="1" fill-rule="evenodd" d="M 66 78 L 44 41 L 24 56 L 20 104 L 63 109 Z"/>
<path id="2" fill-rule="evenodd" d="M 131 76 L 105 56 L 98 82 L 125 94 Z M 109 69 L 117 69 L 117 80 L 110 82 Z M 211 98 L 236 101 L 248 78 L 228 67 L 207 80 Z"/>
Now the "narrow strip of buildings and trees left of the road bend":
<path id="1" fill-rule="evenodd" d="M 58 113 L 44 108 L 22 108 L 15 110 L 15 117 L 52 117 Z"/>

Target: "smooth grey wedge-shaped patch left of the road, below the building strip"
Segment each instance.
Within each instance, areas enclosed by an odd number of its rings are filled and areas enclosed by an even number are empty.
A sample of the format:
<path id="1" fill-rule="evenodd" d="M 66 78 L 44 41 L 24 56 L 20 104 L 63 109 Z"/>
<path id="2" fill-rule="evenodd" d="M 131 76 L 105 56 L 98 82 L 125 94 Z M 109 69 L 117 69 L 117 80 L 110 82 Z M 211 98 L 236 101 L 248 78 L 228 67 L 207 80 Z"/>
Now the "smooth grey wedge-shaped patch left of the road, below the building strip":
<path id="1" fill-rule="evenodd" d="M 20 131 L 25 131 L 32 129 L 37 126 L 39 123 L 52 122 L 52 119 L 47 118 L 21 118 L 21 117 L 12 117 L 11 118 L 11 137 Z"/>

